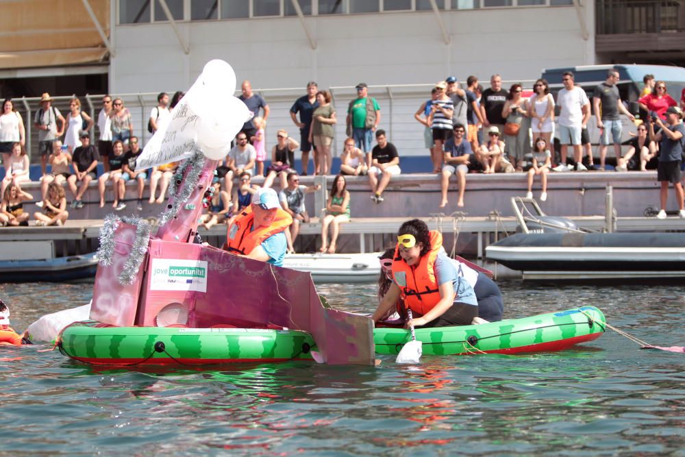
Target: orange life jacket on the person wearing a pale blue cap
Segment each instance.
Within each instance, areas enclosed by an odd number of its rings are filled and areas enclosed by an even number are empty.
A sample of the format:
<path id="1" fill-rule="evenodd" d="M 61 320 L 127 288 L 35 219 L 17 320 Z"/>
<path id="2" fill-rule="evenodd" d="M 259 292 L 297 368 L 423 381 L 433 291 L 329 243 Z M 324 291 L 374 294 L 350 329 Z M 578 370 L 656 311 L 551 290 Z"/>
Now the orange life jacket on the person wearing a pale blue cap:
<path id="1" fill-rule="evenodd" d="M 281 208 L 278 208 L 276 218 L 269 227 L 256 227 L 252 230 L 254 218 L 251 205 L 243 208 L 236 220 L 228 227 L 223 249 L 237 254 L 249 254 L 266 238 L 283 232 L 292 223 L 292 216 Z"/>

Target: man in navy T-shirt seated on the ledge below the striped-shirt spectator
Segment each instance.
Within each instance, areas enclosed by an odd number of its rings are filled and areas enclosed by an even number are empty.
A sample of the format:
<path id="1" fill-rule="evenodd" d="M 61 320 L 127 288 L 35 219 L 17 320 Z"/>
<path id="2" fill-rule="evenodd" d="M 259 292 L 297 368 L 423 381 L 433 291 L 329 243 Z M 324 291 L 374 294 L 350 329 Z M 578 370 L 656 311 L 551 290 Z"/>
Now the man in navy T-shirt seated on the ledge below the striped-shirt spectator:
<path id="1" fill-rule="evenodd" d="M 445 153 L 443 165 L 443 173 L 440 180 L 440 192 L 443 199 L 440 201 L 440 208 L 447 206 L 447 187 L 449 186 L 449 177 L 456 175 L 459 189 L 459 197 L 457 206 L 460 208 L 464 206 L 464 189 L 466 188 L 466 173 L 469 173 L 469 164 L 475 160 L 473 158 L 473 151 L 471 151 L 471 143 L 466 141 L 466 127 L 462 124 L 456 124 L 453 127 L 453 137 L 445 142 Z"/>

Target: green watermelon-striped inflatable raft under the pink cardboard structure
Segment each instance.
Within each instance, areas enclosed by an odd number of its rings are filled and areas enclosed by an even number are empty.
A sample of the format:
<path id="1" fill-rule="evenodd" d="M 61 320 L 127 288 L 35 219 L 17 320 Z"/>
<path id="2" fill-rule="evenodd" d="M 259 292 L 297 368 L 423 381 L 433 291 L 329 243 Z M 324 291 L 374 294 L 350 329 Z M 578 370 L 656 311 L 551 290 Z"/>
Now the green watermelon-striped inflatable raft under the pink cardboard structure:
<path id="1" fill-rule="evenodd" d="M 314 338 L 300 330 L 116 327 L 73 323 L 58 337 L 60 351 L 93 365 L 218 365 L 311 359 Z"/>

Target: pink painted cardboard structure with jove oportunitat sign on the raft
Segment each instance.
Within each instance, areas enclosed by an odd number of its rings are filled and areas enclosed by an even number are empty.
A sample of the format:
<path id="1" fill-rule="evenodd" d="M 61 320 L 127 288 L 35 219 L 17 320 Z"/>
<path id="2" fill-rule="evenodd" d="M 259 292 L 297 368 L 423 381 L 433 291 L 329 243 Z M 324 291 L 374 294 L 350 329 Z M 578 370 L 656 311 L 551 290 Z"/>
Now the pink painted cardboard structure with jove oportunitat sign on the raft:
<path id="1" fill-rule="evenodd" d="M 98 267 L 90 318 L 119 326 L 304 330 L 314 337 L 314 350 L 324 362 L 373 365 L 371 319 L 324 308 L 309 273 L 192 243 L 215 166 L 214 160 L 203 164 L 197 185 L 177 216 L 150 239 L 147 258 L 129 286 L 119 284 L 119 274 L 136 227 L 119 224 L 112 264 Z M 184 179 L 188 173 L 190 167 Z M 174 198 L 169 199 L 169 209 Z"/>

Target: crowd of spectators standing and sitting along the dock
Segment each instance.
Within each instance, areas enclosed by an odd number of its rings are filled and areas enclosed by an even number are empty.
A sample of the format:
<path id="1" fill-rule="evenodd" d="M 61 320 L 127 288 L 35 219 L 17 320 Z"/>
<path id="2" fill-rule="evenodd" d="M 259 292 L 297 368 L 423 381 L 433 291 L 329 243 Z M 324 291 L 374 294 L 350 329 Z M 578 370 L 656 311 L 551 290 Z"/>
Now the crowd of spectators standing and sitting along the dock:
<path id="1" fill-rule="evenodd" d="M 606 81 L 594 88 L 592 97 L 574 82 L 573 73 L 562 77 L 563 88 L 555 99 L 545 79 L 538 79 L 532 92 L 526 94 L 521 84 L 502 87 L 500 75 L 490 77 L 490 87 L 483 88 L 473 75 L 462 86 L 456 77 L 449 76 L 434 85 L 430 97 L 421 103 L 414 119 L 424 128 L 425 147 L 434 173 L 440 176 L 440 208 L 448 203 L 449 181 L 457 180 L 458 207 L 464 206 L 466 175 L 469 173 L 527 173 L 527 197 L 532 197 L 536 176 L 540 177 L 540 200 L 547 199 L 547 176 L 551 171 L 586 171 L 595 169 L 587 131 L 591 112 L 594 112 L 601 133 L 599 169 L 605 169 L 608 146 L 614 146 L 616 170 L 628 171 L 657 169 L 660 166 L 659 142 L 673 140 L 664 128 L 679 132 L 671 125 L 669 113 L 681 118 L 678 103 L 667 94 L 666 84 L 645 76 L 645 88 L 640 94 L 640 120 L 629 112 L 619 96 L 616 83 L 619 72 L 608 71 Z M 383 129 L 379 129 L 381 109 L 378 101 L 369 94 L 369 86 L 357 84 L 356 97 L 349 101 L 345 111 L 346 136 L 340 154 L 340 175 L 334 180 L 322 227 L 322 252 L 336 250 L 338 224 L 349 220 L 349 192 L 345 176 L 366 175 L 374 203 L 384 201 L 384 191 L 394 176 L 401 173 L 398 147 L 391 143 Z M 148 130 L 156 132 L 171 119 L 171 110 L 183 97 L 176 92 L 169 97 L 161 92 L 158 104 L 149 114 Z M 306 85 L 306 94 L 290 108 L 290 119 L 299 129 L 299 138 L 292 138 L 286 129 L 276 132 L 275 143 L 266 138 L 266 123 L 270 108 L 266 100 L 254 93 L 251 83 L 245 81 L 239 97 L 253 113 L 242 126 L 234 145 L 216 171 L 215 188 L 203 225 L 212 227 L 230 221 L 232 216 L 249 204 L 258 186 L 251 183 L 253 176 L 264 176 L 264 187 L 278 186 L 285 210 L 291 212 L 295 223 L 289 231 L 288 248 L 298 235 L 301 221 L 308 221 L 303 199 L 314 186 L 300 186 L 299 175 L 307 175 L 312 156 L 314 175 L 332 175 L 332 144 L 336 140 L 334 126 L 338 123 L 336 108 L 327 90 L 320 90 L 316 82 Z M 42 177 L 38 206 L 45 213 L 36 213 L 37 223 L 59 225 L 69 212 L 62 207 L 66 184 L 71 190 L 71 209 L 84 207 L 83 197 L 90 182 L 97 182 L 99 206 L 111 202 L 112 208 L 121 211 L 127 207 L 125 191 L 128 181 L 136 182 L 136 210 L 142 210 L 145 186 L 149 184 L 149 203 L 162 203 L 166 198 L 169 181 L 178 163 L 156 166 L 150 170 L 136 169 L 136 158 L 142 153 L 139 137 L 135 135 L 132 114 L 121 98 L 105 95 L 97 113 L 97 147 L 90 144 L 92 117 L 81 109 L 77 97 L 70 100 L 69 113 L 62 115 L 52 106 L 53 99 L 46 92 L 40 98 L 40 109 L 34 115 L 38 129 L 38 153 Z M 685 108 L 685 90 L 680 105 Z M 592 106 L 593 110 L 590 110 Z M 621 152 L 621 114 L 637 125 L 625 155 Z M 555 125 L 558 129 L 559 153 L 553 142 Z M 650 129 L 656 125 L 653 134 Z M 682 122 L 680 122 L 682 125 Z M 677 136 L 677 135 L 676 135 Z M 677 139 L 677 138 L 676 138 Z M 374 144 L 375 140 L 375 144 Z M 573 157 L 569 158 L 569 145 Z M 21 183 L 29 180 L 29 160 L 25 152 L 25 127 L 22 117 L 14 109 L 11 99 L 3 102 L 0 114 L 0 151 L 3 153 L 5 178 L 1 195 L 3 210 L 0 223 L 17 225 L 26 222 L 14 206 L 21 205 L 27 193 Z M 295 171 L 295 151 L 301 152 L 301 171 Z M 271 163 L 265 167 L 268 153 Z M 311 153 L 311 154 L 310 154 Z M 584 161 L 584 155 L 586 160 Z M 674 156 L 675 157 L 675 156 Z M 102 164 L 103 173 L 97 175 Z M 49 171 L 48 171 L 49 165 Z M 672 168 L 672 167 L 671 167 Z M 669 169 L 670 170 L 670 169 Z M 680 174 L 660 169 L 659 180 L 673 182 L 676 195 L 682 194 Z M 340 184 L 342 183 L 342 184 Z M 55 189 L 62 188 L 62 192 Z M 108 188 L 109 195 L 108 197 Z M 667 188 L 667 187 L 666 187 Z M 8 192 L 8 189 L 10 192 Z M 662 187 L 662 193 L 664 188 Z M 5 194 L 7 198 L 5 198 Z M 60 195 L 62 197 L 60 197 Z M 333 197 L 332 197 L 333 195 Z M 14 196 L 14 197 L 12 197 Z M 682 197 L 680 197 L 682 201 Z M 66 199 L 64 200 L 66 201 Z M 20 208 L 21 210 L 21 208 Z M 38 217 L 40 216 L 40 217 Z M 327 230 L 334 227 L 331 243 Z"/>

